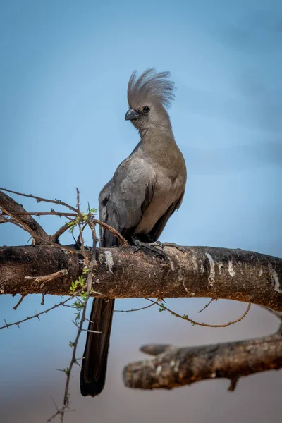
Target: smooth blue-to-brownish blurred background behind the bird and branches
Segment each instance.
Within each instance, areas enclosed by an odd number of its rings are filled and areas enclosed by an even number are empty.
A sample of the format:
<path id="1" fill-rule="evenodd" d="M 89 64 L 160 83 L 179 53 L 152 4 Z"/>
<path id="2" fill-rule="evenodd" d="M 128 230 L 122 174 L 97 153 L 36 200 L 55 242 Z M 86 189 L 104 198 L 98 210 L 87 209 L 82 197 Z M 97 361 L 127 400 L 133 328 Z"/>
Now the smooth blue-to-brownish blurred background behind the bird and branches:
<path id="1" fill-rule="evenodd" d="M 282 257 L 281 1 L 0 1 L 0 186 L 59 198 L 82 209 L 138 142 L 126 90 L 134 69 L 171 71 L 176 100 L 169 111 L 188 168 L 180 210 L 161 240 L 242 248 Z M 16 198 L 16 197 L 15 197 Z M 17 199 L 29 211 L 48 204 Z M 56 207 L 56 209 L 58 209 Z M 63 221 L 40 219 L 49 233 Z M 90 235 L 87 235 L 90 242 Z M 0 245 L 29 235 L 0 226 Z M 69 235 L 62 238 L 71 242 Z M 58 299 L 46 298 L 45 307 Z M 0 319 L 15 321 L 43 307 L 30 295 L 0 298 Z M 205 299 L 168 300 L 197 318 Z M 116 308 L 144 300 L 118 300 Z M 245 305 L 214 302 L 201 318 L 223 323 Z M 56 309 L 0 333 L 1 421 L 44 422 L 61 404 L 75 336 L 71 309 Z M 190 327 L 156 309 L 114 315 L 106 388 L 79 395 L 71 381 L 66 422 L 277 422 L 281 371 L 239 382 L 207 381 L 168 392 L 130 391 L 121 372 L 145 357 L 140 345 L 203 345 L 263 336 L 277 322 L 259 307 L 227 329 Z M 83 341 L 80 345 L 82 355 Z M 80 355 L 80 356 L 81 356 Z"/>

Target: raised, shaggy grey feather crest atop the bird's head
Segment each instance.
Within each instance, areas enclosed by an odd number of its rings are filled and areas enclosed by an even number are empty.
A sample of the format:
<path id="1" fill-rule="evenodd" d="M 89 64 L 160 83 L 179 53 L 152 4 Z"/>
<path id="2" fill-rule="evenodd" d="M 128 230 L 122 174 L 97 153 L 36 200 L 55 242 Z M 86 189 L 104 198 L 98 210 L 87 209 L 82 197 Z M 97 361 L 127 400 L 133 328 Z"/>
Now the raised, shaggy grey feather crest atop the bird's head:
<path id="1" fill-rule="evenodd" d="M 137 78 L 137 71 L 134 71 L 128 82 L 129 106 L 134 108 L 136 102 L 152 99 L 169 107 L 174 99 L 174 82 L 168 79 L 170 76 L 170 72 L 157 73 L 155 68 L 149 68 Z"/>

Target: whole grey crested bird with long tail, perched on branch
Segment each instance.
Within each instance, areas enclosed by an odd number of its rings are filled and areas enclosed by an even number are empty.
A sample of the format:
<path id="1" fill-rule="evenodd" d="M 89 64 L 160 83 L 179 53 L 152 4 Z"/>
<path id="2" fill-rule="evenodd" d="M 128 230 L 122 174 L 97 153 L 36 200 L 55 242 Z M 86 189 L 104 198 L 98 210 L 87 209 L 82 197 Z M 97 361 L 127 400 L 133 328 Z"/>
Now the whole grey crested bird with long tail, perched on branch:
<path id="1" fill-rule="evenodd" d="M 128 82 L 125 121 L 140 133 L 140 142 L 116 169 L 99 195 L 99 216 L 116 228 L 131 245 L 156 249 L 166 222 L 183 200 L 186 167 L 176 145 L 166 111 L 174 98 L 169 72 L 147 69 Z M 101 228 L 101 246 L 118 242 Z M 90 314 L 85 353 L 80 373 L 83 396 L 97 396 L 104 388 L 114 300 L 95 298 Z"/>

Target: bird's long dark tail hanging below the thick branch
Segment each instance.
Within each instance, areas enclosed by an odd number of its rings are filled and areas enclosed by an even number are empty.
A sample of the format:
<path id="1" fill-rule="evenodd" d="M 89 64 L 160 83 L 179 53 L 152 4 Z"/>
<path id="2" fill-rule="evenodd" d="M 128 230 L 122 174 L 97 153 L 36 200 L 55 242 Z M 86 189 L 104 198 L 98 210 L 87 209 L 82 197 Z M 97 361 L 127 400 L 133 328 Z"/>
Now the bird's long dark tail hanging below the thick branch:
<path id="1" fill-rule="evenodd" d="M 104 388 L 113 313 L 114 300 L 94 298 L 80 372 L 82 396 L 97 396 Z"/>

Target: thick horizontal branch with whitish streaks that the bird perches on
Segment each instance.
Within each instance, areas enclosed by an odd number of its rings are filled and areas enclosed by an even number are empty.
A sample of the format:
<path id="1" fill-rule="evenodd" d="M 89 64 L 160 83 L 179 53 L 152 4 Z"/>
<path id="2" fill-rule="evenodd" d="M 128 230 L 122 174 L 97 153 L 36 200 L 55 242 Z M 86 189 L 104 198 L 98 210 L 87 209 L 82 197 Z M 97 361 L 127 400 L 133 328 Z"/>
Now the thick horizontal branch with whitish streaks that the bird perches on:
<path id="1" fill-rule="evenodd" d="M 226 298 L 282 311 L 282 259 L 225 248 L 165 250 L 168 260 L 134 253 L 133 247 L 97 249 L 93 289 L 107 298 Z M 79 254 L 46 245 L 0 247 L 0 293 L 40 293 L 39 284 L 25 276 L 61 269 L 68 275 L 49 281 L 49 294 L 68 295 L 82 272 Z"/>

